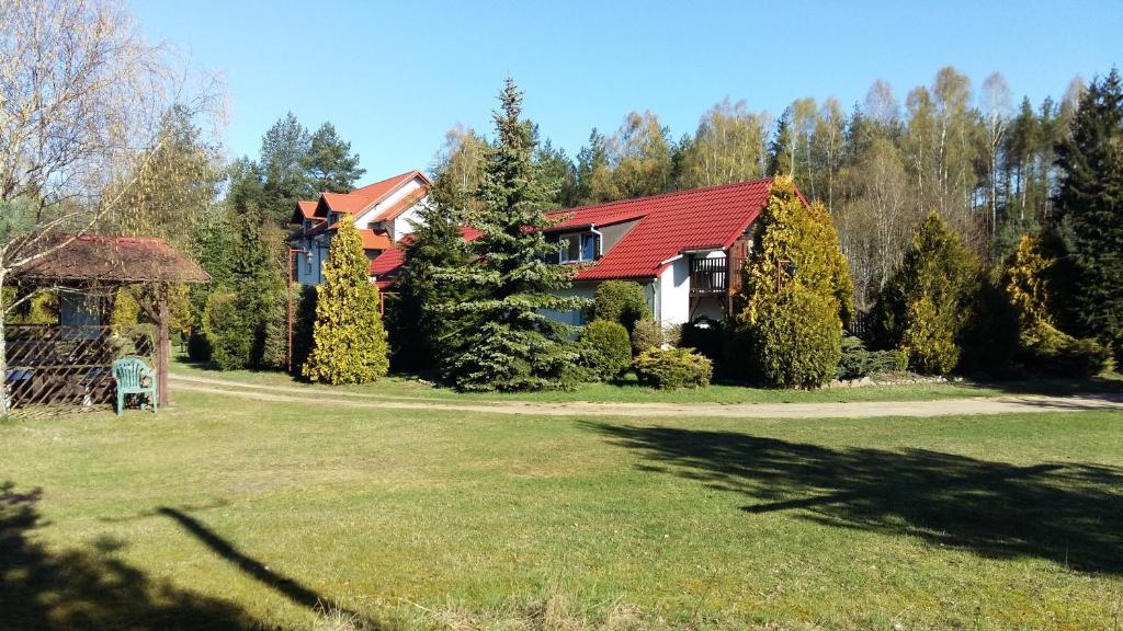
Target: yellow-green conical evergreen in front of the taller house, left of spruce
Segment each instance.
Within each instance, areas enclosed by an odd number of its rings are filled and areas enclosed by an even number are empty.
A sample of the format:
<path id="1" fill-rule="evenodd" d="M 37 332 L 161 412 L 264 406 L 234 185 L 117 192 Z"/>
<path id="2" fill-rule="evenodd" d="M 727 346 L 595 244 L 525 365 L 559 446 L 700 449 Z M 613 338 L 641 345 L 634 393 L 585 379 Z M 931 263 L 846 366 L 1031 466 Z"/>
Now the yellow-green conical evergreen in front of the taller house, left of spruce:
<path id="1" fill-rule="evenodd" d="M 371 283 L 363 240 L 349 221 L 331 239 L 317 287 L 312 353 L 304 376 L 329 384 L 368 383 L 390 368 L 378 287 Z"/>

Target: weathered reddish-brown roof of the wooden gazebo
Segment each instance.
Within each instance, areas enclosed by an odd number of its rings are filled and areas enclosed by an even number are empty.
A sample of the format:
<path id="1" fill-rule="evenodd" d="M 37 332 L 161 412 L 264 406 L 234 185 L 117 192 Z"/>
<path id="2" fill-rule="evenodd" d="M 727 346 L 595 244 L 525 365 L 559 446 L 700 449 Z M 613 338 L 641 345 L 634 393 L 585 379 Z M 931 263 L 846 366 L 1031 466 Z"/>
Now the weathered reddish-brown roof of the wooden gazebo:
<path id="1" fill-rule="evenodd" d="M 210 275 L 157 237 L 51 235 L 28 247 L 49 252 L 13 271 L 17 280 L 108 283 L 207 283 Z M 28 252 L 25 250 L 25 255 Z"/>

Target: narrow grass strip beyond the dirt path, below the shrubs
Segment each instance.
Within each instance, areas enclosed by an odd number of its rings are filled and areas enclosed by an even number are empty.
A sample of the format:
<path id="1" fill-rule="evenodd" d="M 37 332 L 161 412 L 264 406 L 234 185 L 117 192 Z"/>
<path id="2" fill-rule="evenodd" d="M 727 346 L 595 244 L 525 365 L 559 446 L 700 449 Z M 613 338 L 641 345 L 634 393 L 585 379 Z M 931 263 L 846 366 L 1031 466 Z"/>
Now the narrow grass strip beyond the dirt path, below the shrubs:
<path id="1" fill-rule="evenodd" d="M 219 372 L 185 363 L 172 364 L 175 374 L 229 379 L 258 385 L 323 387 L 295 382 L 276 372 Z M 859 401 L 928 401 L 965 396 L 1003 396 L 1016 394 L 1087 394 L 1123 393 L 1123 377 L 1112 375 L 1094 379 L 1035 378 L 978 383 L 973 381 L 896 384 L 833 390 L 767 390 L 733 385 L 711 385 L 701 390 L 659 391 L 640 385 L 585 384 L 575 391 L 533 393 L 459 393 L 437 387 L 416 378 L 391 376 L 375 384 L 346 386 L 341 390 L 385 397 L 440 401 L 592 401 L 626 403 L 823 403 Z"/>

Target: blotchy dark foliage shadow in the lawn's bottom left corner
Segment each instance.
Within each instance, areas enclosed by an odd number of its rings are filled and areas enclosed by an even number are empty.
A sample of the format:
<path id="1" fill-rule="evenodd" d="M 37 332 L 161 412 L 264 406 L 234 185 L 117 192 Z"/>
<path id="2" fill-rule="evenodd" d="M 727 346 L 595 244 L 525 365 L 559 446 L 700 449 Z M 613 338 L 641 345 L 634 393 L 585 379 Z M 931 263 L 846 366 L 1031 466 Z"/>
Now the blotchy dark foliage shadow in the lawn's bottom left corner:
<path id="1" fill-rule="evenodd" d="M 234 603 L 154 580 L 118 558 L 125 543 L 104 538 L 92 551 L 56 552 L 34 540 L 45 525 L 43 492 L 0 484 L 0 628 L 259 629 Z"/>

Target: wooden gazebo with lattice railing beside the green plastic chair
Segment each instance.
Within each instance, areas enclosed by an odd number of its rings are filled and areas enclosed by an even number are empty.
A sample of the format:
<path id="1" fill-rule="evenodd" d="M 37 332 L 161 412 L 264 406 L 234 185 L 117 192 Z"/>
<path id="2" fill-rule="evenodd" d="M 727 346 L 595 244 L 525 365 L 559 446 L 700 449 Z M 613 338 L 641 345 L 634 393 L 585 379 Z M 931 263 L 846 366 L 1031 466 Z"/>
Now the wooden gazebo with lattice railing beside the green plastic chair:
<path id="1" fill-rule="evenodd" d="M 210 276 L 194 262 L 154 237 L 54 235 L 42 237 L 34 249 L 39 257 L 12 271 L 21 291 L 53 290 L 60 295 L 57 324 L 8 324 L 4 327 L 4 387 L 10 404 L 28 408 L 44 404 L 83 406 L 113 396 L 111 367 L 120 354 L 121 331 L 108 326 L 107 296 L 124 285 L 143 285 L 140 305 L 156 322 L 158 400 L 168 402 L 167 372 L 171 356 L 167 289 L 184 283 L 206 283 Z M 26 254 L 26 253 L 25 253 Z M 128 340 L 127 340 L 128 341 Z M 143 350 L 141 350 L 143 348 Z"/>

